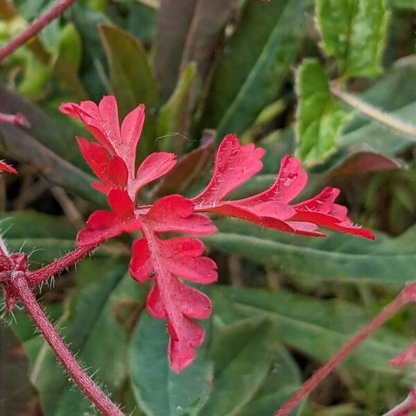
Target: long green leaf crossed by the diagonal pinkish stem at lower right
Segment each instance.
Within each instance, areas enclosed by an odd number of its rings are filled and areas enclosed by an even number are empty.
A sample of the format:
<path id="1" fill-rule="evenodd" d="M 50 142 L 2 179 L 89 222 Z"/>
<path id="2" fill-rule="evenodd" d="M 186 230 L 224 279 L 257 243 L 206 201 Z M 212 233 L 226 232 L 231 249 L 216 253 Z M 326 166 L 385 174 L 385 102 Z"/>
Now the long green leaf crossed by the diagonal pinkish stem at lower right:
<path id="1" fill-rule="evenodd" d="M 225 323 L 265 316 L 275 323 L 277 340 L 320 361 L 327 361 L 372 318 L 351 303 L 313 299 L 286 291 L 270 293 L 216 286 L 213 298 L 216 313 Z M 347 365 L 394 374 L 397 370 L 388 365 L 388 360 L 409 343 L 408 337 L 381 328 L 355 350 Z"/>

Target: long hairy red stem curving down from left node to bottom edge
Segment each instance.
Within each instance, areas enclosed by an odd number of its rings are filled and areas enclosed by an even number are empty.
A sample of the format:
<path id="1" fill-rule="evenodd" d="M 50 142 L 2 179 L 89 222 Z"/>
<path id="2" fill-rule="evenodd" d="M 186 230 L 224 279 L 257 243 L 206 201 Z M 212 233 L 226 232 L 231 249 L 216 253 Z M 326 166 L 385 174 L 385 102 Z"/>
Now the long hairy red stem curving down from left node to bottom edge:
<path id="1" fill-rule="evenodd" d="M 83 370 L 69 351 L 67 345 L 60 338 L 53 324 L 42 311 L 33 295 L 31 288 L 24 277 L 24 272 L 14 272 L 9 284 L 15 290 L 17 297 L 25 307 L 26 311 L 35 322 L 53 352 L 58 357 L 62 365 L 67 369 L 71 378 L 77 383 L 81 390 L 89 397 L 95 406 L 101 410 L 105 416 L 123 416 L 121 410 L 105 395 L 94 381 Z"/>

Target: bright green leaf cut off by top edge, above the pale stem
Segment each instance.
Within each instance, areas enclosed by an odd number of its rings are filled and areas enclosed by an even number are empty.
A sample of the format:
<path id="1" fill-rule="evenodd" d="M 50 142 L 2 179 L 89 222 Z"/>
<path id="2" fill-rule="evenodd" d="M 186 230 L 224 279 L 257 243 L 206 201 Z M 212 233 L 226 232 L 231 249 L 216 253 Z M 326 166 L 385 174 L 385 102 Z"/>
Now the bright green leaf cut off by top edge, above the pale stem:
<path id="1" fill-rule="evenodd" d="M 387 31 L 385 0 L 317 0 L 322 49 L 338 62 L 343 78 L 381 72 Z"/>

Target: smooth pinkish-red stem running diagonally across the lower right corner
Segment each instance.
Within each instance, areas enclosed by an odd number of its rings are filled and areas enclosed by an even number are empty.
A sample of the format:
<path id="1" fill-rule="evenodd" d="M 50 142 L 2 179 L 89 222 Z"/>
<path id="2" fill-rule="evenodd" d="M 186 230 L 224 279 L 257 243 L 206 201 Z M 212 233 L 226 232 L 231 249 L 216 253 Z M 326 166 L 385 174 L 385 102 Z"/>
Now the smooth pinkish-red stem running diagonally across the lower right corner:
<path id="1" fill-rule="evenodd" d="M 298 390 L 295 395 L 293 395 L 286 403 L 275 413 L 275 416 L 287 416 L 291 411 L 300 404 L 311 391 L 313 391 L 316 386 L 325 379 L 328 374 L 349 354 L 351 354 L 359 344 L 361 344 L 366 338 L 368 338 L 377 328 L 379 328 L 384 322 L 389 320 L 392 315 L 395 315 L 399 309 L 409 302 L 415 301 L 416 299 L 416 284 L 410 284 L 404 288 L 399 295 L 390 302 L 385 308 L 376 315 L 370 322 L 368 322 L 365 327 L 358 331 L 347 344 L 345 344 L 341 349 L 333 355 L 327 363 L 322 365 L 320 369 L 315 372 Z M 395 415 L 393 413 L 392 415 Z M 392 416 L 389 415 L 389 416 Z M 400 415 L 400 413 L 397 413 Z M 397 416 L 395 415 L 395 416 Z"/>

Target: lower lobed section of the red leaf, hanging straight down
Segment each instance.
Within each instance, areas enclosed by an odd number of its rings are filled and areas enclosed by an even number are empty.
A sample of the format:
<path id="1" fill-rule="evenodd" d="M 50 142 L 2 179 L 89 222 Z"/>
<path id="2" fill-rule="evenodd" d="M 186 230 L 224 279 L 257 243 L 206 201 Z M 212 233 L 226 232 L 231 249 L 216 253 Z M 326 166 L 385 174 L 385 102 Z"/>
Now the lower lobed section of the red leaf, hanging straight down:
<path id="1" fill-rule="evenodd" d="M 198 239 L 178 237 L 159 239 L 148 224 L 146 239 L 135 241 L 130 272 L 138 281 L 155 279 L 147 309 L 157 319 L 166 318 L 171 340 L 168 347 L 171 367 L 180 372 L 196 356 L 195 348 L 202 344 L 204 330 L 190 318 L 205 319 L 211 313 L 209 297 L 180 281 L 177 277 L 211 283 L 217 278 L 216 265 L 202 257 L 204 245 Z"/>

